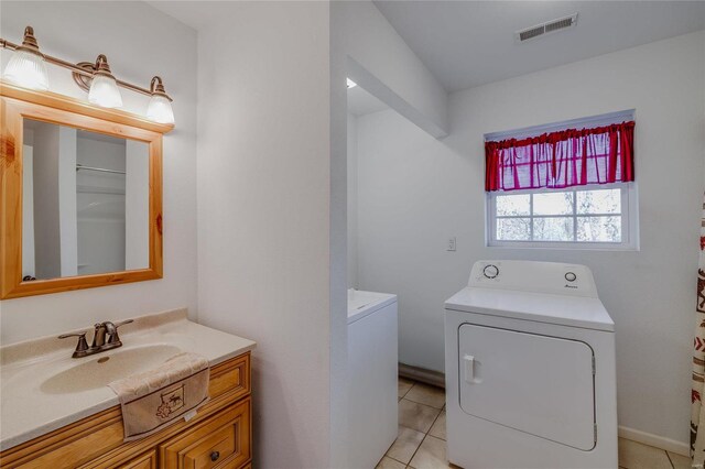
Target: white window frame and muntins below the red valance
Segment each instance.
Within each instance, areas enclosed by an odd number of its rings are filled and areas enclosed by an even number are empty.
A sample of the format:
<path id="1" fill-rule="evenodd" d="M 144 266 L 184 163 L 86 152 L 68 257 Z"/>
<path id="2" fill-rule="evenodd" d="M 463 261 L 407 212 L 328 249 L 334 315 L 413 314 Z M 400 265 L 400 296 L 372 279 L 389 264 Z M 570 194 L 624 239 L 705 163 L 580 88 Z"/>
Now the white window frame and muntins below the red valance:
<path id="1" fill-rule="evenodd" d="M 582 241 L 507 241 L 497 239 L 497 218 L 555 218 L 571 217 L 556 215 L 533 215 L 497 217 L 497 196 L 520 194 L 549 194 L 596 189 L 621 189 L 621 242 L 582 242 Z M 605 251 L 638 251 L 639 250 L 639 220 L 637 207 L 637 183 L 592 184 L 586 186 L 566 187 L 561 189 L 524 189 L 524 190 L 496 190 L 486 195 L 486 243 L 491 248 L 529 248 L 529 249 L 587 249 Z M 573 230 L 577 230 L 577 218 L 584 216 L 609 216 L 615 214 L 576 214 L 576 198 L 573 197 Z M 533 223 L 532 223 L 533 225 Z"/>

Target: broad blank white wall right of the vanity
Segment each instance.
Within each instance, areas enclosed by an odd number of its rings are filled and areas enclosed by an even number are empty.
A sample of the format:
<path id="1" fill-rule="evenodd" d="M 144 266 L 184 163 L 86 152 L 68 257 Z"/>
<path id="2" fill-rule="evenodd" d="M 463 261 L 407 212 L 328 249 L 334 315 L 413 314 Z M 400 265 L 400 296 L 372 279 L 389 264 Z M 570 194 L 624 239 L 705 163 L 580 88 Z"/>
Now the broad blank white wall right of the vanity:
<path id="1" fill-rule="evenodd" d="M 258 342 L 257 466 L 330 467 L 328 4 L 209 8 L 218 19 L 198 40 L 199 320 Z"/>

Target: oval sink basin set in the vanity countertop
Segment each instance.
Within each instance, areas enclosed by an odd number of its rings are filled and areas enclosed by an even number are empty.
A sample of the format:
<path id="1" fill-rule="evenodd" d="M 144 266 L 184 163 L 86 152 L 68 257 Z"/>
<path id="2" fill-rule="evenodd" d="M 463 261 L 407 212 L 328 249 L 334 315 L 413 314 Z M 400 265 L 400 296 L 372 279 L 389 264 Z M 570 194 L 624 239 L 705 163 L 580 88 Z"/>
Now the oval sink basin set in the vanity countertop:
<path id="1" fill-rule="evenodd" d="M 40 389 L 47 394 L 65 394 L 106 386 L 156 368 L 181 351 L 177 347 L 160 343 L 97 353 L 88 358 L 89 361 L 80 359 L 75 367 L 50 377 Z"/>

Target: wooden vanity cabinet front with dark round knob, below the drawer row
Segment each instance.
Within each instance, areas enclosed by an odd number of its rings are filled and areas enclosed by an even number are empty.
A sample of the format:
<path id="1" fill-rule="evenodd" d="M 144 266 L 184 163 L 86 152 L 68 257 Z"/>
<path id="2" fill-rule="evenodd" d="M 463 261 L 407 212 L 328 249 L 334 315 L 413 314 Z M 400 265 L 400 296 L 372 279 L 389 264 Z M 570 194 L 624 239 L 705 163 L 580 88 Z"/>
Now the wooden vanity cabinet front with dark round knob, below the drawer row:
<path id="1" fill-rule="evenodd" d="M 250 459 L 250 397 L 160 445 L 164 469 L 239 467 Z M 230 466 L 226 466 L 230 467 Z"/>

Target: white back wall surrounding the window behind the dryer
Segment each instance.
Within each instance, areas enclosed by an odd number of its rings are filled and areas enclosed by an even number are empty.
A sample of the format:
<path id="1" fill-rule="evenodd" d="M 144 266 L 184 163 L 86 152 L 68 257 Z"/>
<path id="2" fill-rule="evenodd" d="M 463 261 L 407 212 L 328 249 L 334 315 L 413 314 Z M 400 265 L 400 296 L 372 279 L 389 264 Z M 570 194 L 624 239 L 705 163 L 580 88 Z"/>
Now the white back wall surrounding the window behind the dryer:
<path id="1" fill-rule="evenodd" d="M 444 141 L 393 111 L 358 118 L 358 282 L 399 294 L 400 360 L 444 369 L 443 302 L 474 261 L 584 263 L 616 323 L 620 425 L 685 448 L 704 83 L 698 32 L 453 94 Z M 631 108 L 639 252 L 485 247 L 484 133 Z"/>

